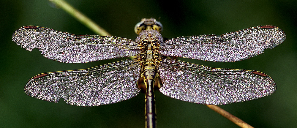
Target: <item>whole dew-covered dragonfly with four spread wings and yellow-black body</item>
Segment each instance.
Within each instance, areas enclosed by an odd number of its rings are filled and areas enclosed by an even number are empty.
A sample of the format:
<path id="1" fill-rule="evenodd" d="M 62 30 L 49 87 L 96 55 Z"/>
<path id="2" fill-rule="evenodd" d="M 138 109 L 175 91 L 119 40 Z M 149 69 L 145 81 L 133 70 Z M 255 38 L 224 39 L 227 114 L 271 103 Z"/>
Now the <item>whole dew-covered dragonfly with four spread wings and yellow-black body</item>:
<path id="1" fill-rule="evenodd" d="M 274 80 L 263 72 L 211 68 L 166 56 L 204 61 L 249 59 L 281 44 L 286 34 L 266 25 L 222 35 L 198 35 L 165 40 L 162 24 L 143 18 L 135 25 L 135 41 L 98 35 L 75 35 L 38 26 L 16 30 L 12 40 L 26 50 L 38 48 L 44 57 L 64 63 L 86 63 L 132 57 L 88 69 L 42 73 L 31 78 L 25 93 L 50 102 L 99 106 L 145 95 L 145 126 L 157 126 L 154 91 L 186 102 L 225 105 L 270 95 Z"/>

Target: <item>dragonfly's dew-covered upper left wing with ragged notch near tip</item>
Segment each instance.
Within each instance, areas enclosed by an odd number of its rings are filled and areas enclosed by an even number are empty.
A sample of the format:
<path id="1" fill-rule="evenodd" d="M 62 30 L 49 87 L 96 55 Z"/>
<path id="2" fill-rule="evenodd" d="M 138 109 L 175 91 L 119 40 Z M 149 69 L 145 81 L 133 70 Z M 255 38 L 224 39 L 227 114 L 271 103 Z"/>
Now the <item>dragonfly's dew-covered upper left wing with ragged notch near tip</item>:
<path id="1" fill-rule="evenodd" d="M 126 38 L 74 35 L 37 26 L 24 26 L 12 35 L 12 41 L 31 51 L 39 48 L 44 57 L 66 63 L 86 63 L 135 56 L 140 48 Z"/>

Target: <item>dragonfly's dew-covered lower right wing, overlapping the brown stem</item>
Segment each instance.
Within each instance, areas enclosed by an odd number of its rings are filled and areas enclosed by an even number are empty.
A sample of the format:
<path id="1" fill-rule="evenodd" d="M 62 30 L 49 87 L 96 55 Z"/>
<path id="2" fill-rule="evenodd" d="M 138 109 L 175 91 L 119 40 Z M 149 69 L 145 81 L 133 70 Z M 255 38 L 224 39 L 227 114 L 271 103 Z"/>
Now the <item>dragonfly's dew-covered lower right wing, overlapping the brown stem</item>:
<path id="1" fill-rule="evenodd" d="M 161 93 L 207 105 L 224 105 L 272 94 L 276 84 L 268 75 L 249 70 L 219 69 L 162 58 Z"/>

